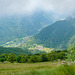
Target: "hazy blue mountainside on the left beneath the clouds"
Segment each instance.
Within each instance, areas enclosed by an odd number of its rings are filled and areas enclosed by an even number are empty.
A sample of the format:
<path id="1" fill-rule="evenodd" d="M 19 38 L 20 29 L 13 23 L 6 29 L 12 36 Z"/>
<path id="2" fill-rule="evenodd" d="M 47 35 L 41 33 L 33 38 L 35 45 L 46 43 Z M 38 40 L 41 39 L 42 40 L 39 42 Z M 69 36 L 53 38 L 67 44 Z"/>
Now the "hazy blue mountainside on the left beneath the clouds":
<path id="1" fill-rule="evenodd" d="M 53 23 L 51 14 L 0 16 L 0 45 L 16 38 L 31 36 Z"/>

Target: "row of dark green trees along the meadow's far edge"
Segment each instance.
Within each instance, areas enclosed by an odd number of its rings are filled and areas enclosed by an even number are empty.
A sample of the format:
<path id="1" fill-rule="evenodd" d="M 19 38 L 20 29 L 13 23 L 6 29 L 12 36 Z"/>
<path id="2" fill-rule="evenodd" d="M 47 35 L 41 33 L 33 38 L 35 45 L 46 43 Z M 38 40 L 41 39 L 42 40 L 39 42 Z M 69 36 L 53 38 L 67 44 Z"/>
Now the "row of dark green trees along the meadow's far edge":
<path id="1" fill-rule="evenodd" d="M 14 53 L 10 54 L 1 54 L 0 55 L 0 62 L 9 61 L 11 63 L 17 62 L 17 63 L 36 63 L 36 62 L 45 62 L 45 61 L 57 61 L 65 60 L 67 50 L 63 51 L 52 51 L 51 53 L 45 54 L 45 53 L 37 53 L 34 55 L 15 55 Z"/>

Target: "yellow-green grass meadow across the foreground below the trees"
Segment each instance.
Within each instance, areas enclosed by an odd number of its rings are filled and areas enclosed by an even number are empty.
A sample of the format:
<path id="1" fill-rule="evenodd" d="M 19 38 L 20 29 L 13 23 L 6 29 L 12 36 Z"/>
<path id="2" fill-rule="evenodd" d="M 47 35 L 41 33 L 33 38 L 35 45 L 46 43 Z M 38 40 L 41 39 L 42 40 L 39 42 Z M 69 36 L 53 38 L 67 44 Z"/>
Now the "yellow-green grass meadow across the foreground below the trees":
<path id="1" fill-rule="evenodd" d="M 0 75 L 75 75 L 75 64 L 60 62 L 0 63 Z"/>

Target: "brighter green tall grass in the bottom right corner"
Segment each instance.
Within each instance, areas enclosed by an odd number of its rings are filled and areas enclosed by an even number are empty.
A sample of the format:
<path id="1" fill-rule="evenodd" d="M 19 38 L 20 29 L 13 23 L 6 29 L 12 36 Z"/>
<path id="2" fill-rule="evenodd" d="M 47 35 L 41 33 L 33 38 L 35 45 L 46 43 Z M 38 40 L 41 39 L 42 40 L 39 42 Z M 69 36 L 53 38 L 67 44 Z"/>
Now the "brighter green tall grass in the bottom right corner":
<path id="1" fill-rule="evenodd" d="M 67 64 L 53 67 L 52 69 L 44 69 L 40 71 L 30 71 L 26 75 L 75 75 L 75 68 Z"/>

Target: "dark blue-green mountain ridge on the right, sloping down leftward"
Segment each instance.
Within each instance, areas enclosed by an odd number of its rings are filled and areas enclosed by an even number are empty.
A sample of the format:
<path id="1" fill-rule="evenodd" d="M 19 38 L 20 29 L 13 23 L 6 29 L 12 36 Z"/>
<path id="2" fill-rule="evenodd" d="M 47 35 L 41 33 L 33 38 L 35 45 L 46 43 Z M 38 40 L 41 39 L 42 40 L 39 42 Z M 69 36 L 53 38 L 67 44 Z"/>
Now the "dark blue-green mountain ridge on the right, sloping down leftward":
<path id="1" fill-rule="evenodd" d="M 20 47 L 42 45 L 46 48 L 67 49 L 75 41 L 75 19 L 56 21 L 42 29 Z"/>

